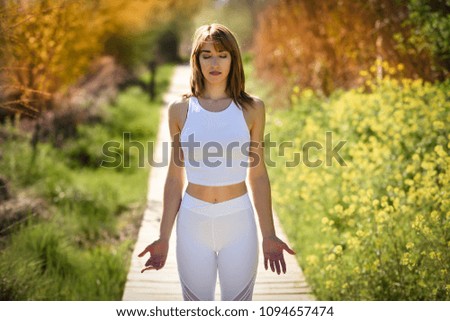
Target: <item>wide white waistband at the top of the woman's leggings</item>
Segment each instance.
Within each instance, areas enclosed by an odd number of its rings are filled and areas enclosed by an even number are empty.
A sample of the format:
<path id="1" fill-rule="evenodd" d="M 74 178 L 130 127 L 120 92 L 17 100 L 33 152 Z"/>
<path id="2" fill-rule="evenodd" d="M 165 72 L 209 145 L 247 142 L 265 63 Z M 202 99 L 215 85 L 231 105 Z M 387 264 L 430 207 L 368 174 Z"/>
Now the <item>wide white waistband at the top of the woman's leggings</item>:
<path id="1" fill-rule="evenodd" d="M 248 193 L 242 194 L 241 196 L 219 202 L 219 203 L 209 203 L 198 199 L 187 192 L 184 192 L 183 199 L 181 200 L 180 207 L 189 209 L 193 212 L 204 214 L 204 215 L 226 215 L 239 210 L 253 209 L 252 202 Z"/>

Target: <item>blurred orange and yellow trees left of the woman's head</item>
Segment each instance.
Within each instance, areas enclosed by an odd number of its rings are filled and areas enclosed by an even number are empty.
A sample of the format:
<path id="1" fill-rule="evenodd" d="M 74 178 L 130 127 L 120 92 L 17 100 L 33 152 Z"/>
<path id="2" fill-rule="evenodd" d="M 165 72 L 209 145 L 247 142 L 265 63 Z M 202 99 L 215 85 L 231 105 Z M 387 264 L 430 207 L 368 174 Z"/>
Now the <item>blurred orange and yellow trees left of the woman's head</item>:
<path id="1" fill-rule="evenodd" d="M 146 65 L 168 38 L 157 30 L 180 28 L 202 2 L 0 1 L 0 108 L 31 116 L 51 108 L 52 95 L 102 54 L 130 68 Z"/>

